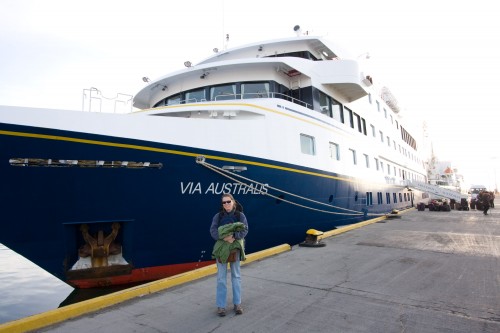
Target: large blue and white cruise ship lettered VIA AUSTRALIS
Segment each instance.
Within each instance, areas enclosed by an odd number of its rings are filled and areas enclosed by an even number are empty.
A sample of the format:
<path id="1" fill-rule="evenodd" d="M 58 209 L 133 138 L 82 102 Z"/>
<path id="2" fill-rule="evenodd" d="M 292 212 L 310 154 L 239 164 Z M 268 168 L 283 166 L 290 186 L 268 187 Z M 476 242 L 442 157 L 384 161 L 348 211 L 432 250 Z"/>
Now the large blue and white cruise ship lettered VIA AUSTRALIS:
<path id="1" fill-rule="evenodd" d="M 223 193 L 249 253 L 420 199 L 418 140 L 356 59 L 300 33 L 214 51 L 149 81 L 128 114 L 0 106 L 0 242 L 99 287 L 212 264 Z"/>

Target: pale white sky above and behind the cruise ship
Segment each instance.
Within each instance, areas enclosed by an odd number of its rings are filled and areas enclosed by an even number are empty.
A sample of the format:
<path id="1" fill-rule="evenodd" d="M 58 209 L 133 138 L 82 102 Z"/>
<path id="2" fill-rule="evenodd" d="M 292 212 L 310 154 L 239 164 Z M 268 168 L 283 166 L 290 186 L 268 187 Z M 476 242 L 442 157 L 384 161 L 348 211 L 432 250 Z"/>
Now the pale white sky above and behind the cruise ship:
<path id="1" fill-rule="evenodd" d="M 326 4 L 328 4 L 327 7 Z M 223 48 L 325 36 L 363 60 L 441 161 L 500 178 L 500 11 L 494 1 L 2 0 L 0 104 L 82 109 L 83 90 L 135 95 Z M 423 143 L 421 143 L 422 146 Z M 429 143 L 430 145 L 430 143 Z"/>

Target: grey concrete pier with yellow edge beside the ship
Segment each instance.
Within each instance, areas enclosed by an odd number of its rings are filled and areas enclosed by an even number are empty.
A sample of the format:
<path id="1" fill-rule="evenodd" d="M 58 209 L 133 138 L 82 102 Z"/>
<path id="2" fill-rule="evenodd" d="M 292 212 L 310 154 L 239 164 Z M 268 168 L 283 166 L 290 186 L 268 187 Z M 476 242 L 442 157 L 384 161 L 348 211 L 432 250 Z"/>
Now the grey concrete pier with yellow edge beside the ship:
<path id="1" fill-rule="evenodd" d="M 252 257 L 242 267 L 242 315 L 230 288 L 226 317 L 216 315 L 209 266 L 0 332 L 500 332 L 498 208 L 412 209 L 326 236 L 324 247 Z"/>

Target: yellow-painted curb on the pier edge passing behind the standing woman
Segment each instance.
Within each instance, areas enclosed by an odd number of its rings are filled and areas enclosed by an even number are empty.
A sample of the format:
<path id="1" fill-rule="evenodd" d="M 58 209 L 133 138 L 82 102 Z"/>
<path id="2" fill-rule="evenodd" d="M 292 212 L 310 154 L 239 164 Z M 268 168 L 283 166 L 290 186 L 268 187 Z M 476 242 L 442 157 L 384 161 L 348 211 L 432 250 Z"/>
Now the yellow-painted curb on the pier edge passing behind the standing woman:
<path id="1" fill-rule="evenodd" d="M 255 253 L 250 253 L 246 256 L 246 260 L 242 262 L 242 264 L 246 265 L 269 256 L 289 251 L 290 249 L 291 249 L 290 245 L 283 244 L 272 247 L 270 249 L 262 250 Z M 55 310 L 43 312 L 30 317 L 0 324 L 0 332 L 22 333 L 40 329 L 42 327 L 54 325 L 63 322 L 65 320 L 68 320 L 70 318 L 75 318 L 86 313 L 94 312 L 135 297 L 152 294 L 164 289 L 175 287 L 183 283 L 198 280 L 203 277 L 215 274 L 216 272 L 217 272 L 217 266 L 215 264 L 210 266 L 205 266 L 193 271 L 178 274 L 162 280 L 149 282 L 146 284 L 142 284 L 140 286 L 121 290 L 112 294 L 96 297 L 79 303 L 70 304 Z"/>

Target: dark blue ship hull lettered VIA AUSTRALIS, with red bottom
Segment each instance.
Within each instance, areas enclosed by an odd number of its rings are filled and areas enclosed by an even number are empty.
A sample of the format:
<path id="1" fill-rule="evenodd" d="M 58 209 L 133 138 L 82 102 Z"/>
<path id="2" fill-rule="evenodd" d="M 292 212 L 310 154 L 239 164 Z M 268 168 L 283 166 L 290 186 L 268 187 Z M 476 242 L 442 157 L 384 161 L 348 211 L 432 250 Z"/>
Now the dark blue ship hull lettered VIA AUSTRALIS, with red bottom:
<path id="1" fill-rule="evenodd" d="M 283 243 L 298 244 L 309 228 L 332 230 L 410 205 L 400 200 L 367 205 L 367 192 L 374 196 L 377 192 L 401 193 L 401 186 L 367 184 L 272 160 L 46 128 L 0 126 L 0 242 L 77 287 L 153 280 L 211 264 L 214 242 L 209 228 L 223 192 L 232 193 L 243 204 L 249 221 L 248 253 Z M 198 156 L 217 167 L 244 166 L 247 169 L 240 174 L 255 182 L 247 181 L 251 187 L 245 187 L 197 163 Z M 13 163 L 23 159 L 42 162 Z M 55 162 L 60 160 L 147 161 L 149 166 Z M 123 280 L 72 278 L 68 272 L 85 244 L 80 226 L 87 224 L 91 233 L 102 230 L 106 235 L 115 222 L 120 225 L 116 242 L 122 246 L 129 269 L 110 275 L 136 275 Z M 175 269 L 160 269 L 168 267 Z"/>

